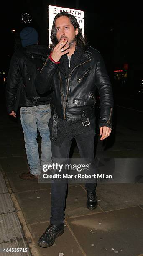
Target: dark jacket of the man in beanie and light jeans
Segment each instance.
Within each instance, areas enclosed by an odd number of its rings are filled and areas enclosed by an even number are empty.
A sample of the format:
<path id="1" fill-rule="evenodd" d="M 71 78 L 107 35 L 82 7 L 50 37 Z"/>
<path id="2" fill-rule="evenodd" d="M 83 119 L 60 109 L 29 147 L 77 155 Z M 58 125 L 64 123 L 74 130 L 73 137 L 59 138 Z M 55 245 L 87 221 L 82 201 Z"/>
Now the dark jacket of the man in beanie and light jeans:
<path id="1" fill-rule="evenodd" d="M 11 113 L 12 110 L 16 112 L 18 106 L 36 106 L 48 104 L 50 102 L 51 95 L 47 93 L 46 99 L 42 101 L 42 97 L 40 100 L 35 102 L 34 100 L 30 100 L 26 96 L 26 90 L 23 84 L 23 67 L 26 60 L 26 54 L 39 54 L 45 57 L 45 61 L 47 59 L 47 55 L 49 54 L 49 48 L 44 45 L 30 45 L 26 47 L 21 47 L 12 56 L 10 62 L 10 69 L 8 72 L 7 83 L 6 83 L 6 108 L 8 113 Z"/>

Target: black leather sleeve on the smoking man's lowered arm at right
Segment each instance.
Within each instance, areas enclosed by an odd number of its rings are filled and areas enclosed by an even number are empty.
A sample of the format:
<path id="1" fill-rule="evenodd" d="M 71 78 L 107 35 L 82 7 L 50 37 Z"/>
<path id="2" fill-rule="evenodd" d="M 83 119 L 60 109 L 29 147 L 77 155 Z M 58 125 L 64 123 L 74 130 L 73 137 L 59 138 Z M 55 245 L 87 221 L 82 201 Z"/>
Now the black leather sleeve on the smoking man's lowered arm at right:
<path id="1" fill-rule="evenodd" d="M 99 128 L 103 126 L 112 128 L 112 114 L 114 104 L 112 85 L 101 55 L 99 61 L 97 62 L 95 81 L 100 96 Z"/>

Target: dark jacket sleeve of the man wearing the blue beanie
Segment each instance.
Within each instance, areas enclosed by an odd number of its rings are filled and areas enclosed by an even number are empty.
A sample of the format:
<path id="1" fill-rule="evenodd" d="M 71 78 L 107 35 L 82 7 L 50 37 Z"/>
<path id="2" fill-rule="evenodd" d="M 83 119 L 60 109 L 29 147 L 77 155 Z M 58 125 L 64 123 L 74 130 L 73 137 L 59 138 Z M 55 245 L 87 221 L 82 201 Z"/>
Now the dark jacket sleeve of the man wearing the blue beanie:
<path id="1" fill-rule="evenodd" d="M 18 84 L 20 82 L 21 70 L 18 58 L 13 54 L 10 61 L 10 68 L 8 71 L 8 77 L 6 82 L 5 97 L 6 97 L 6 108 L 8 113 L 14 110 L 15 97 L 18 90 Z"/>

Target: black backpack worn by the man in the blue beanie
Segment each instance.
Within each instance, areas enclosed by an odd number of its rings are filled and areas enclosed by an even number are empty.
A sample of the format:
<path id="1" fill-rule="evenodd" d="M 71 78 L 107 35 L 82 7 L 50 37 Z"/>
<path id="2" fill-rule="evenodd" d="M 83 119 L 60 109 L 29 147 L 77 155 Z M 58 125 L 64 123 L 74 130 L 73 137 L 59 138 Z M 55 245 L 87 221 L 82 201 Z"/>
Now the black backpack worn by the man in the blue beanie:
<path id="1" fill-rule="evenodd" d="M 45 101 L 47 95 L 39 95 L 35 87 L 36 75 L 42 69 L 46 59 L 42 55 L 26 53 L 26 60 L 23 67 L 23 84 L 26 91 L 26 96 L 30 100 Z"/>

